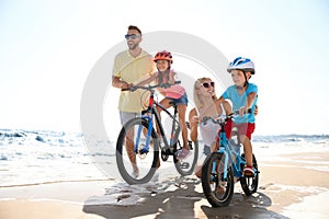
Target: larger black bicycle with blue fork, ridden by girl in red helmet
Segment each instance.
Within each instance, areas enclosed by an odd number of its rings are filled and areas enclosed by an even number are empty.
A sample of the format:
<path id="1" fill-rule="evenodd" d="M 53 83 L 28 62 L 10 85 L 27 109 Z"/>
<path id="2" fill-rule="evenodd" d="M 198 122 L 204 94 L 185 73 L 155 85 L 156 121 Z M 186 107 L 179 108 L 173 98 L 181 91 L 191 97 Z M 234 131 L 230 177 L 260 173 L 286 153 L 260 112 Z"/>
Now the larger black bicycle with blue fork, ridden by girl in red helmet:
<path id="1" fill-rule="evenodd" d="M 194 172 L 198 155 L 197 142 L 189 141 L 190 155 L 183 160 L 179 159 L 178 151 L 182 149 L 182 139 L 177 105 L 173 102 L 170 103 L 173 108 L 173 113 L 171 113 L 155 101 L 155 89 L 170 85 L 162 83 L 132 87 L 128 90 L 131 92 L 144 90 L 150 93 L 147 108 L 141 112 L 140 117 L 132 118 L 123 126 L 116 141 L 116 164 L 120 174 L 128 184 L 143 184 L 151 180 L 160 165 L 160 151 L 162 161 L 167 161 L 172 155 L 174 166 L 182 176 L 191 175 Z M 157 106 L 164 112 L 171 123 L 171 128 L 167 129 L 170 129 L 168 134 L 161 123 Z M 156 124 L 159 126 L 160 135 L 155 130 Z"/>

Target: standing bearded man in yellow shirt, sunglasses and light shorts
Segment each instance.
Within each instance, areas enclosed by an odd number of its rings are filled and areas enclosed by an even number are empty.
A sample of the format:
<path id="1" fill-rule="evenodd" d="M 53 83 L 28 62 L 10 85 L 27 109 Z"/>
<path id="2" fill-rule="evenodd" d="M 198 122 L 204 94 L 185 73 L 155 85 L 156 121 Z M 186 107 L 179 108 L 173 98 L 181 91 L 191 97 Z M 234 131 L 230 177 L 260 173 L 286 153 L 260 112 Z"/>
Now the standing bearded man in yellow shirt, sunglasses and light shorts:
<path id="1" fill-rule="evenodd" d="M 149 78 L 156 71 L 152 56 L 139 47 L 141 31 L 137 26 L 131 25 L 125 38 L 128 49 L 116 55 L 112 71 L 112 85 L 122 90 L 129 88 L 133 83 L 138 83 L 145 78 Z M 145 108 L 147 97 L 148 94 L 143 91 L 121 91 L 118 111 L 122 126 L 131 118 L 140 115 L 141 110 Z M 133 137 L 134 132 L 127 134 L 126 147 L 134 169 L 134 175 L 138 177 L 136 154 L 133 151 L 134 143 L 129 140 Z"/>

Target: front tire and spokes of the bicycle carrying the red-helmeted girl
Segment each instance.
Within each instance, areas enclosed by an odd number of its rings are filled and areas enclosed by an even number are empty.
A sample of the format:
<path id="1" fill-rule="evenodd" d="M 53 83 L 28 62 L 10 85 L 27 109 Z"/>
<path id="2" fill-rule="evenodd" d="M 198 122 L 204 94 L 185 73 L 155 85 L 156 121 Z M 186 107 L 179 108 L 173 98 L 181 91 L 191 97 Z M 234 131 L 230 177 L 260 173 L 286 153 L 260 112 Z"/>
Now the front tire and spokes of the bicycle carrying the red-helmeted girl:
<path id="1" fill-rule="evenodd" d="M 159 161 L 159 142 L 157 140 L 157 135 L 155 129 L 151 130 L 150 136 L 150 147 L 148 153 L 139 153 L 139 152 L 131 152 L 131 154 L 135 155 L 136 158 L 136 166 L 138 168 L 139 174 L 136 176 L 134 174 L 134 169 L 132 165 L 132 162 L 129 160 L 128 150 L 132 151 L 132 149 L 128 149 L 126 147 L 126 137 L 128 134 L 128 130 L 134 130 L 134 145 L 136 143 L 136 137 L 138 134 L 136 130 L 139 126 L 143 127 L 143 131 L 139 136 L 139 145 L 141 146 L 143 142 L 145 142 L 146 135 L 144 130 L 148 130 L 148 120 L 145 118 L 132 118 L 128 120 L 124 127 L 121 129 L 117 141 L 116 141 L 116 164 L 118 168 L 118 172 L 123 180 L 133 185 L 133 184 L 144 184 L 151 180 L 154 176 L 158 162 Z M 132 142 L 132 141 L 131 141 Z M 152 145 L 152 146 L 151 146 Z M 124 150 L 125 149 L 125 150 Z"/>

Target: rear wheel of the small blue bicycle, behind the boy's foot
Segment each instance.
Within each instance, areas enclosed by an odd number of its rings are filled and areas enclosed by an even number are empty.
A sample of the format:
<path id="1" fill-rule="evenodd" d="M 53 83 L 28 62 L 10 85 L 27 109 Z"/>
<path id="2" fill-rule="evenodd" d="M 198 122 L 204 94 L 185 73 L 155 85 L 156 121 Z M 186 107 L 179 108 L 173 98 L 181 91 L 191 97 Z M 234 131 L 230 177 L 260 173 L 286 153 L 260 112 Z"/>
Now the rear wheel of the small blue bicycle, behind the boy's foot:
<path id="1" fill-rule="evenodd" d="M 241 154 L 241 157 L 242 157 L 242 159 L 245 159 L 243 153 Z M 254 169 L 254 175 L 252 177 L 242 176 L 240 178 L 240 184 L 241 184 L 242 191 L 246 194 L 246 196 L 252 195 L 258 189 L 259 173 L 260 172 L 258 171 L 258 164 L 257 164 L 257 160 L 256 160 L 254 154 L 252 154 L 252 165 L 253 165 L 253 169 Z M 243 165 L 241 166 L 241 170 L 243 170 Z"/>

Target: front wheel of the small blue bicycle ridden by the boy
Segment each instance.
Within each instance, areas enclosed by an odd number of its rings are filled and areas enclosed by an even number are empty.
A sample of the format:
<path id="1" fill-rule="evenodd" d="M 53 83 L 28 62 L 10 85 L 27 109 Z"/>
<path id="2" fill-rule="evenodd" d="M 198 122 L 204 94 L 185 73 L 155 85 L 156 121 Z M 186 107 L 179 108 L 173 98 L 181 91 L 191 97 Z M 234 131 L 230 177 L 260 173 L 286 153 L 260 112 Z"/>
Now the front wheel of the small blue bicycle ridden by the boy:
<path id="1" fill-rule="evenodd" d="M 203 193 L 213 207 L 228 206 L 232 199 L 235 181 L 230 165 L 227 168 L 227 178 L 223 178 L 224 164 L 223 153 L 213 152 L 202 166 L 202 188 Z M 213 165 L 216 164 L 216 172 L 213 173 Z"/>

